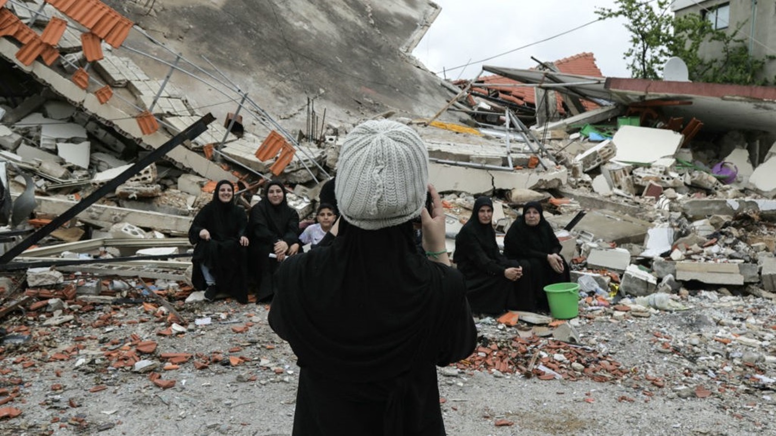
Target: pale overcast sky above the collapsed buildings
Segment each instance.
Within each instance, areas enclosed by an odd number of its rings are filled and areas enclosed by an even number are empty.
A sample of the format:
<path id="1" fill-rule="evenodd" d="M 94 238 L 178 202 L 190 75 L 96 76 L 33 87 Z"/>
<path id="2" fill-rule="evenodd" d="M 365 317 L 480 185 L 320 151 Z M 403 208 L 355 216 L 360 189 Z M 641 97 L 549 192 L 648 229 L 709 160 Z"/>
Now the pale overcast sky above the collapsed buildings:
<path id="1" fill-rule="evenodd" d="M 544 40 L 592 21 L 596 7 L 612 8 L 614 0 L 434 0 L 442 6 L 431 29 L 414 50 L 414 56 L 428 69 L 448 71 L 448 78 L 474 78 L 486 57 Z M 553 40 L 497 57 L 485 64 L 529 68 L 540 61 L 556 61 L 585 51 L 595 55 L 596 64 L 608 77 L 630 77 L 622 54 L 629 47 L 629 33 L 622 20 L 594 22 Z"/>

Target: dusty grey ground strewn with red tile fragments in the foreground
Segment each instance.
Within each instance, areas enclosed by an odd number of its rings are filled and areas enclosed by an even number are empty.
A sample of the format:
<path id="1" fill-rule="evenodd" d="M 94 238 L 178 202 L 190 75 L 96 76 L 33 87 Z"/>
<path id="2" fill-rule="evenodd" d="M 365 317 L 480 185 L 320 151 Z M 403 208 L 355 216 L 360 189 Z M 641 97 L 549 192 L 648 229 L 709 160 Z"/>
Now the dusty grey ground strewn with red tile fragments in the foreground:
<path id="1" fill-rule="evenodd" d="M 776 366 L 767 358 L 774 355 L 772 303 L 717 292 L 684 303 L 691 309 L 653 310 L 648 318 L 618 313 L 616 320 L 610 309 L 583 308 L 583 317 L 572 321 L 580 345 L 619 362 L 628 374 L 610 382 L 572 369 L 568 374 L 580 380 L 440 369 L 448 434 L 774 434 L 769 378 L 776 378 Z M 50 317 L 43 311 L 3 320 L 9 330 L 29 327 L 33 338 L 2 352 L 0 393 L 19 388 L 2 407 L 22 414 L 0 421 L 0 434 L 290 434 L 299 369 L 289 346 L 266 324 L 265 306 L 189 303 L 181 309 L 189 329 L 172 336 L 158 334 L 168 327 L 166 317 L 150 307 L 85 309 L 64 310 L 74 320 L 58 327 L 43 326 Z M 206 317 L 211 324 L 194 322 Z M 530 327 L 477 321 L 483 341 Z M 141 354 L 140 341 L 158 346 Z M 148 374 L 112 367 L 116 356 L 132 352 L 158 362 L 155 371 L 175 386 L 161 389 Z M 192 357 L 164 370 L 165 353 Z M 213 362 L 217 355 L 221 362 Z M 206 361 L 210 365 L 196 369 L 195 362 Z M 95 386 L 106 389 L 90 392 Z M 514 424 L 497 427 L 497 420 Z"/>

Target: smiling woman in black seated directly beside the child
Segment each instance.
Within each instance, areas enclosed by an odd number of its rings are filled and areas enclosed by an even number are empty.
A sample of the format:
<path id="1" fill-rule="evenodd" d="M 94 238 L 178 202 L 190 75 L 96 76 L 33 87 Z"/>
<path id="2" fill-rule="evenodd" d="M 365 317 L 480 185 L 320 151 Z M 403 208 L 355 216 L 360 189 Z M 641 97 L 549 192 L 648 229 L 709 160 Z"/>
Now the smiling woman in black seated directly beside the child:
<path id="1" fill-rule="evenodd" d="M 281 182 L 268 182 L 264 198 L 251 208 L 248 219 L 251 240 L 248 270 L 258 285 L 257 302 L 272 299 L 272 275 L 279 262 L 299 252 L 299 214 L 286 202 Z M 270 255 L 272 254 L 272 257 Z"/>

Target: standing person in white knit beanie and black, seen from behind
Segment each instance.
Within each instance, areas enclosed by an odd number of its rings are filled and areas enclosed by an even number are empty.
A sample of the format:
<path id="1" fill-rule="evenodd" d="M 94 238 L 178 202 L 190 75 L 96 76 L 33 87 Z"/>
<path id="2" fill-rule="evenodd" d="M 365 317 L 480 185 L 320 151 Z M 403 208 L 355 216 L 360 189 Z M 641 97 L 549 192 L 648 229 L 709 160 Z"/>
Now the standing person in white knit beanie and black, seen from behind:
<path id="1" fill-rule="evenodd" d="M 301 367 L 295 436 L 445 434 L 435 365 L 469 356 L 476 329 L 433 188 L 424 208 L 427 165 L 410 127 L 357 126 L 338 161 L 333 242 L 279 268 L 269 325 Z"/>

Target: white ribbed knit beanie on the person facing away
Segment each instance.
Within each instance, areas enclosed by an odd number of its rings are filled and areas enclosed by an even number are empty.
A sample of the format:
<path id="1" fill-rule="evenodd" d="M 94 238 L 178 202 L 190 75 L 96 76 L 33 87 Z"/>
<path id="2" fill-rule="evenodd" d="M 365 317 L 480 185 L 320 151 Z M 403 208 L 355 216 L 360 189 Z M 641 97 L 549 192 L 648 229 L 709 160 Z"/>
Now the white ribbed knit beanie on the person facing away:
<path id="1" fill-rule="evenodd" d="M 345 138 L 334 194 L 345 220 L 365 230 L 407 222 L 421 213 L 428 185 L 428 151 L 404 124 L 359 124 Z"/>

